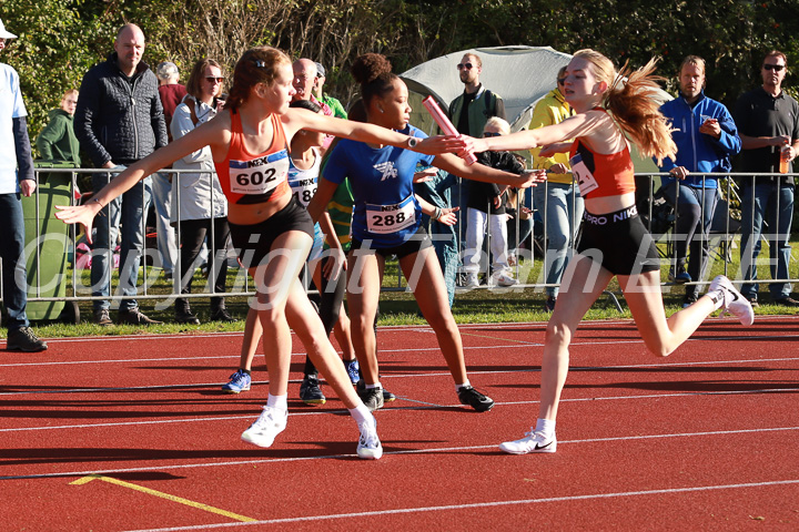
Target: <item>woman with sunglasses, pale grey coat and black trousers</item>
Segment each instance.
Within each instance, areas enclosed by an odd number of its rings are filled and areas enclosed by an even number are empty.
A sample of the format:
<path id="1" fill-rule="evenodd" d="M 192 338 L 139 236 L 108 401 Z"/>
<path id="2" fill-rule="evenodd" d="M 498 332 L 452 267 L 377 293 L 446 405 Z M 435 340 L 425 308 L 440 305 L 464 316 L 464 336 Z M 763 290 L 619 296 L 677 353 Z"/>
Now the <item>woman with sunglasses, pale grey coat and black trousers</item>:
<path id="1" fill-rule="evenodd" d="M 172 119 L 172 137 L 178 140 L 216 115 L 224 83 L 222 66 L 213 59 L 201 59 L 189 75 L 188 95 L 175 109 Z M 214 171 L 211 147 L 192 152 L 172 164 L 175 170 L 194 170 L 198 173 L 180 174 L 173 182 L 172 224 L 180 223 L 181 294 L 191 294 L 198 256 L 208 237 L 209 283 L 215 293 L 225 291 L 227 260 L 225 249 L 230 238 L 227 202 Z M 178 196 L 180 193 L 180 197 Z M 179 217 L 180 215 L 180 217 Z M 180 221 L 180 222 L 179 222 Z M 213 222 L 212 222 L 213 221 Z M 224 297 L 211 298 L 213 321 L 234 321 L 225 308 Z M 175 300 L 175 320 L 180 324 L 200 324 L 184 297 Z"/>

